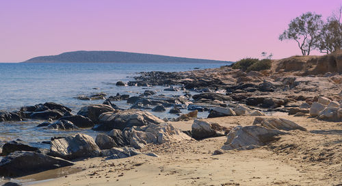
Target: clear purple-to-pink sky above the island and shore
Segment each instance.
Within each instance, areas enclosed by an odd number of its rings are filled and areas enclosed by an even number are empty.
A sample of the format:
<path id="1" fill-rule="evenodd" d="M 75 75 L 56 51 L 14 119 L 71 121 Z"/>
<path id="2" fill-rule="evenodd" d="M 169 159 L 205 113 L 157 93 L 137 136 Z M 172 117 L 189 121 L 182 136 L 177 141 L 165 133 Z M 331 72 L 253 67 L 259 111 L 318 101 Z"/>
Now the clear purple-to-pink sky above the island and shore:
<path id="1" fill-rule="evenodd" d="M 67 51 L 127 51 L 236 61 L 300 55 L 279 34 L 342 0 L 0 0 L 0 62 Z M 313 54 L 319 54 L 314 52 Z"/>

